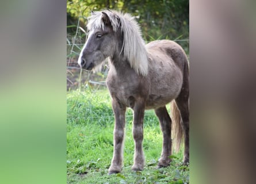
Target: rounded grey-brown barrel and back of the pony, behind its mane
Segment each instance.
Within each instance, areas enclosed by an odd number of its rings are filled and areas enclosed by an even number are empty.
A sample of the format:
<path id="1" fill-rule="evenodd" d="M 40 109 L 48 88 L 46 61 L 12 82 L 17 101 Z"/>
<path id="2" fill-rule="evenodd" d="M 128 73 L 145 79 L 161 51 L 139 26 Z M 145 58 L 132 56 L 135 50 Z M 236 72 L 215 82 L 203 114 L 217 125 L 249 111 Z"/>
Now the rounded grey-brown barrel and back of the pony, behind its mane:
<path id="1" fill-rule="evenodd" d="M 147 109 L 156 108 L 177 98 L 187 62 L 184 50 L 174 41 L 158 40 L 146 45 L 151 81 Z"/>

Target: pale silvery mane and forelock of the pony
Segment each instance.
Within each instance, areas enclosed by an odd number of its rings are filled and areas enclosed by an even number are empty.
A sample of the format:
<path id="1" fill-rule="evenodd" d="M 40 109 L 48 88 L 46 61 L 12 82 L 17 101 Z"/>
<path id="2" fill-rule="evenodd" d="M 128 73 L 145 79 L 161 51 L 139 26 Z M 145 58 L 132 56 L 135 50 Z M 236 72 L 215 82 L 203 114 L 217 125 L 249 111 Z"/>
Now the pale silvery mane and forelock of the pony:
<path id="1" fill-rule="evenodd" d="M 123 32 L 124 42 L 121 52 L 124 53 L 125 59 L 135 70 L 137 74 L 147 76 L 148 74 L 148 59 L 144 40 L 141 36 L 140 27 L 128 13 L 120 13 L 119 11 L 103 10 L 109 17 L 113 31 L 116 32 L 121 26 Z M 87 28 L 89 30 L 95 28 L 104 29 L 104 22 L 102 20 L 102 12 L 96 11 L 91 13 Z M 121 54 L 121 53 L 120 53 Z"/>

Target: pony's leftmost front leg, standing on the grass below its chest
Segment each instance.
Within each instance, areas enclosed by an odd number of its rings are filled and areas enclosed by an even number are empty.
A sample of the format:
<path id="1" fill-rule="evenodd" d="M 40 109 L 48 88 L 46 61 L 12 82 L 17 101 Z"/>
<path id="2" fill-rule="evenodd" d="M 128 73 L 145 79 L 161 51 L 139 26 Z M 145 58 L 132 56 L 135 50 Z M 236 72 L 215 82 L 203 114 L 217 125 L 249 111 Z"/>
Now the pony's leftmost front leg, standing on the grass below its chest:
<path id="1" fill-rule="evenodd" d="M 115 99 L 112 101 L 114 112 L 114 153 L 109 174 L 120 173 L 123 164 L 123 142 L 125 127 L 125 106 L 122 106 Z"/>

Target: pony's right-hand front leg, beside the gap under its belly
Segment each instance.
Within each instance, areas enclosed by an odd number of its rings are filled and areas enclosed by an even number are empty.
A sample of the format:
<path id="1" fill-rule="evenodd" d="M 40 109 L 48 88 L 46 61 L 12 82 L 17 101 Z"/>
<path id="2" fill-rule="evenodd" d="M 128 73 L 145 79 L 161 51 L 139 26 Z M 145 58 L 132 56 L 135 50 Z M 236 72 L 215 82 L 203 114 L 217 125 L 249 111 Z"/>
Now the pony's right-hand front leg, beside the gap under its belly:
<path id="1" fill-rule="evenodd" d="M 143 118 L 145 105 L 143 101 L 135 102 L 133 107 L 133 140 L 135 142 L 135 153 L 133 159 L 133 171 L 143 170 L 144 153 L 142 148 L 143 141 Z"/>

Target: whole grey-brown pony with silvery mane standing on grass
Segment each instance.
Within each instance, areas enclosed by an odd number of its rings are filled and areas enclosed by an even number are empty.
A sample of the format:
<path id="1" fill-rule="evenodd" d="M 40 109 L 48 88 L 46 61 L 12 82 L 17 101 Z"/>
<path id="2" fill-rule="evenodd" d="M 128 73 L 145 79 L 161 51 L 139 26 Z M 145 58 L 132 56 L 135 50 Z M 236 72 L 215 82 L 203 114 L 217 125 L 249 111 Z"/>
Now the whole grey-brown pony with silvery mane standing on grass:
<path id="1" fill-rule="evenodd" d="M 155 109 L 163 133 L 158 167 L 171 159 L 171 118 L 166 104 L 173 101 L 173 134 L 179 148 L 184 134 L 184 163 L 189 163 L 189 66 L 184 50 L 174 41 L 152 41 L 145 45 L 137 22 L 129 14 L 98 11 L 87 24 L 88 39 L 78 64 L 92 70 L 109 57 L 106 84 L 112 97 L 115 117 L 114 153 L 109 174 L 119 173 L 123 163 L 125 110 L 133 109 L 135 154 L 132 170 L 144 167 L 144 110 Z"/>

